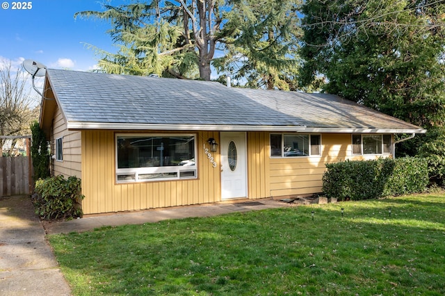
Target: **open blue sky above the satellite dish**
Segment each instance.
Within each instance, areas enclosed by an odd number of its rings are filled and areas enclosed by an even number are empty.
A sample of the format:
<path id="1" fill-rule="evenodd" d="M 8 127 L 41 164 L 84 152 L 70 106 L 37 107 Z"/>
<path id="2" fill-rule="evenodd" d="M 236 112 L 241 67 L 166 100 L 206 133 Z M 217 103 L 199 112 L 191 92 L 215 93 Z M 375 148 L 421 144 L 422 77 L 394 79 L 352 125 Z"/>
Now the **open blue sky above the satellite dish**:
<path id="1" fill-rule="evenodd" d="M 79 11 L 102 10 L 104 0 L 26 1 L 32 6 L 27 10 L 13 10 L 13 2 L 0 0 L 0 59 L 3 61 L 19 65 L 24 59 L 31 59 L 50 68 L 88 71 L 94 69 L 99 56 L 85 43 L 115 51 L 106 33 L 111 28 L 107 22 L 74 19 L 74 13 Z M 111 0 L 108 3 L 119 6 L 131 1 Z"/>

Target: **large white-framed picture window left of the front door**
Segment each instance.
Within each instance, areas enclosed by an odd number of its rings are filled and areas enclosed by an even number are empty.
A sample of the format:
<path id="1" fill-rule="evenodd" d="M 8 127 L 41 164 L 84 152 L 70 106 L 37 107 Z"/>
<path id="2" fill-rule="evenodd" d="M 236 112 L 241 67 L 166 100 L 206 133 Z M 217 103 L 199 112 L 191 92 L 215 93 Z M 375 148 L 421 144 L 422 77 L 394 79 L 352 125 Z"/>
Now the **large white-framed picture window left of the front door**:
<path id="1" fill-rule="evenodd" d="M 196 179 L 195 135 L 117 134 L 118 183 Z"/>

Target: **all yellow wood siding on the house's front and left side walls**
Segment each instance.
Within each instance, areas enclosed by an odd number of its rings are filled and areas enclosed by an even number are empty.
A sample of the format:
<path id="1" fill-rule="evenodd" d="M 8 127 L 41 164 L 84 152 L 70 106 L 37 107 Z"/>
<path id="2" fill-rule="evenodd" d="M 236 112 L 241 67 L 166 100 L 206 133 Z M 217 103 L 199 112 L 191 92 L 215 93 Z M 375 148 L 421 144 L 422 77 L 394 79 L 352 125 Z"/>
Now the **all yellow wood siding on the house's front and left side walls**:
<path id="1" fill-rule="evenodd" d="M 62 115 L 54 117 L 53 145 L 63 137 L 63 161 L 54 161 L 54 173 L 82 180 L 84 214 L 137 211 L 147 208 L 206 204 L 221 201 L 220 155 L 213 152 L 213 167 L 204 146 L 219 142 L 218 132 L 196 132 L 197 179 L 116 183 L 115 133 L 108 130 L 68 131 Z M 149 131 L 147 131 L 149 133 Z M 152 131 L 152 133 L 159 133 Z M 321 156 L 271 158 L 270 133 L 248 132 L 248 198 L 284 197 L 321 192 L 326 163 L 352 156 L 351 135 L 321 135 Z M 55 151 L 55 149 L 54 149 Z"/>

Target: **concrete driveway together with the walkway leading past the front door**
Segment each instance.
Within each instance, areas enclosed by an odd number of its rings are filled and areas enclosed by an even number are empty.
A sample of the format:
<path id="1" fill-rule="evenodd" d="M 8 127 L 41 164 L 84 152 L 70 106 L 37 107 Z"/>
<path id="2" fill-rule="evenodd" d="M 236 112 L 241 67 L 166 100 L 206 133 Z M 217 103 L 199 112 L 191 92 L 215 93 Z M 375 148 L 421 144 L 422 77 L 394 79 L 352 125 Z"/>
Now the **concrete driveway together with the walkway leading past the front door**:
<path id="1" fill-rule="evenodd" d="M 225 213 L 289 206 L 273 199 L 234 203 L 178 206 L 112 215 L 88 215 L 64 222 L 40 222 L 31 199 L 25 196 L 0 197 L 0 295 L 70 295 L 71 290 L 46 233 L 89 231 L 104 226 L 143 224 L 186 217 L 209 217 Z"/>

